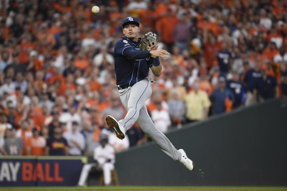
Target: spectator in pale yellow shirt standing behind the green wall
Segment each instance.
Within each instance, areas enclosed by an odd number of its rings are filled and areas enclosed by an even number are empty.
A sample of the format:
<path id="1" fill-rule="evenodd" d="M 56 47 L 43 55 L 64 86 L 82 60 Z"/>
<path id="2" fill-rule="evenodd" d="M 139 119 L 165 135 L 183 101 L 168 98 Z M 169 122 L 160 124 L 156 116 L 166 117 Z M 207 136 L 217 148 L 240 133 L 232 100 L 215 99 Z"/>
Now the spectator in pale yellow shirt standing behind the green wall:
<path id="1" fill-rule="evenodd" d="M 208 94 L 200 90 L 199 80 L 193 83 L 193 90 L 187 94 L 186 118 L 188 121 L 201 121 L 207 118 L 211 106 Z"/>

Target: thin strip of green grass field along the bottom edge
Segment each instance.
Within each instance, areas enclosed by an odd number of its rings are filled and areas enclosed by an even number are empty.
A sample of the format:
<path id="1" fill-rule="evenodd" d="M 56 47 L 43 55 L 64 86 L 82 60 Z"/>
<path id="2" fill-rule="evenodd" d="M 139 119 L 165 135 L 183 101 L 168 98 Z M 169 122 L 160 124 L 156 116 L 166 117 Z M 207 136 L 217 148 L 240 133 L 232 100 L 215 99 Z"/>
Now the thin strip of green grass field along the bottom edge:
<path id="1" fill-rule="evenodd" d="M 0 190 L 286 190 L 287 187 L 177 187 L 177 186 L 110 186 L 110 187 L 0 187 Z"/>

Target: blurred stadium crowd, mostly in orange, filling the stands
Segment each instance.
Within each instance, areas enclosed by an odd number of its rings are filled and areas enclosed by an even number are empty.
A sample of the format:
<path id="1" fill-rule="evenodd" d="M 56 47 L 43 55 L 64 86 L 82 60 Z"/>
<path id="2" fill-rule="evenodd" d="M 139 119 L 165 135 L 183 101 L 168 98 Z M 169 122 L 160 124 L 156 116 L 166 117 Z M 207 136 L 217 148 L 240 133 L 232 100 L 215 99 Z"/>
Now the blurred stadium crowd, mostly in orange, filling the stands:
<path id="1" fill-rule="evenodd" d="M 93 14 L 91 7 L 100 12 Z M 286 0 L 5 0 L 0 4 L 0 155 L 86 155 L 149 141 L 126 115 L 113 51 L 123 18 L 154 30 L 161 59 L 146 107 L 163 133 L 270 98 L 287 101 Z"/>

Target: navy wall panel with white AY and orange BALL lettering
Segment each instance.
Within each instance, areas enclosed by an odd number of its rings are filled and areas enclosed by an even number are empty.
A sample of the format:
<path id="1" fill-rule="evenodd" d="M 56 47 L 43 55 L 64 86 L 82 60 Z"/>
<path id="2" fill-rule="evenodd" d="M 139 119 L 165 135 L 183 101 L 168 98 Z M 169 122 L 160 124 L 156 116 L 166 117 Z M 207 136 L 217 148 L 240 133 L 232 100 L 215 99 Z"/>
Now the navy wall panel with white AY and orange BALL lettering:
<path id="1" fill-rule="evenodd" d="M 76 186 L 85 156 L 1 156 L 0 188 Z"/>

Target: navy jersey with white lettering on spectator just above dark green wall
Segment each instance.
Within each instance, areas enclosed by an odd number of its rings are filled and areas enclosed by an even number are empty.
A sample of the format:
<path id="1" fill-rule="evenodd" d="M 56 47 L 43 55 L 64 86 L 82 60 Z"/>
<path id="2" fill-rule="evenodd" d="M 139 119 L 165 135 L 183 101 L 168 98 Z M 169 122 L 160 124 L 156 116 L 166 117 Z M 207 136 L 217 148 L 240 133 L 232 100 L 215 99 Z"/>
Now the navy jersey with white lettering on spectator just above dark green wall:
<path id="1" fill-rule="evenodd" d="M 226 87 L 233 93 L 234 102 L 233 107 L 238 107 L 244 102 L 245 86 L 238 81 L 227 81 Z"/>

